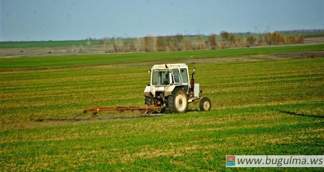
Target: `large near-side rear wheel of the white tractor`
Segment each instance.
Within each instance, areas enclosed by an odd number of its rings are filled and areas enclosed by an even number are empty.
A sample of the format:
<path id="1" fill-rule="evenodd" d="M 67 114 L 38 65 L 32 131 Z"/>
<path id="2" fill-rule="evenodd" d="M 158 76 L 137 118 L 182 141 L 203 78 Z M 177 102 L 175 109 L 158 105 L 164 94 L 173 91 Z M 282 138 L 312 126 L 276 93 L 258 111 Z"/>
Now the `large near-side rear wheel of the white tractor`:
<path id="1" fill-rule="evenodd" d="M 178 95 L 180 98 L 177 103 L 175 99 Z M 167 106 L 171 112 L 185 113 L 188 109 L 188 96 L 186 92 L 181 88 L 175 88 L 172 91 L 172 95 L 167 97 Z"/>

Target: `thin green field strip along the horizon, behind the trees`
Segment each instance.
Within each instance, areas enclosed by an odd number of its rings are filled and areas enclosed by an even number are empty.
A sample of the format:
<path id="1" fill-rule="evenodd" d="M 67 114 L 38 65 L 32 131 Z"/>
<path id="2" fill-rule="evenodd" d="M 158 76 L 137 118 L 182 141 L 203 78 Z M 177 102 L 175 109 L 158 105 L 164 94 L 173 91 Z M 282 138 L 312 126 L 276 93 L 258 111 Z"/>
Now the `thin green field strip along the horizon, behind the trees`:
<path id="1" fill-rule="evenodd" d="M 324 32 L 305 32 L 305 33 L 291 33 L 292 35 L 323 35 Z M 258 34 L 264 36 L 264 34 Z M 289 35 L 286 34 L 285 35 Z M 238 37 L 247 37 L 250 35 L 237 35 Z M 195 41 L 196 36 L 189 36 L 190 40 Z M 208 40 L 208 36 L 203 36 L 203 40 Z M 220 36 L 217 35 L 216 39 L 219 40 Z M 99 45 L 100 40 L 91 40 L 90 45 Z M 113 40 L 109 40 L 112 44 Z M 12 41 L 12 42 L 0 42 L 0 48 L 29 48 L 29 47 L 70 47 L 70 46 L 87 46 L 88 41 L 86 40 L 71 40 L 71 41 Z"/>

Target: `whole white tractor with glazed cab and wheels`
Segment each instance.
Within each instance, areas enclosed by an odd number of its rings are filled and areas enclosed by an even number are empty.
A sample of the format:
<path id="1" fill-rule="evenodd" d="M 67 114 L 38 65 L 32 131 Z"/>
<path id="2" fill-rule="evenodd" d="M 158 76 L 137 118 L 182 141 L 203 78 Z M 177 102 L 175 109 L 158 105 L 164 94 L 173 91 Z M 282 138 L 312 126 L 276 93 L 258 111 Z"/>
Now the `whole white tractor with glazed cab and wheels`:
<path id="1" fill-rule="evenodd" d="M 145 105 L 161 106 L 162 111 L 168 108 L 174 113 L 184 113 L 190 102 L 199 103 L 201 111 L 209 111 L 212 103 L 207 97 L 200 97 L 199 84 L 189 82 L 188 66 L 184 63 L 155 64 L 151 73 L 151 84 L 144 90 Z"/>

